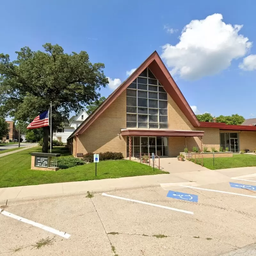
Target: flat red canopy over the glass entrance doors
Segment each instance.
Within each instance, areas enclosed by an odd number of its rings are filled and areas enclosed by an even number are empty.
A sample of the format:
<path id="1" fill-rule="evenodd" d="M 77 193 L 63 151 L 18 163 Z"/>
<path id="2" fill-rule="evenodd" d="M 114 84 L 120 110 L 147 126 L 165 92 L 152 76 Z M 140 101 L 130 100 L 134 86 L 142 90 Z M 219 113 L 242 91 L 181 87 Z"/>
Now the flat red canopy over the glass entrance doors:
<path id="1" fill-rule="evenodd" d="M 122 136 L 172 136 L 172 137 L 198 137 L 204 136 L 204 131 L 172 131 L 172 130 L 142 130 L 125 129 Z"/>

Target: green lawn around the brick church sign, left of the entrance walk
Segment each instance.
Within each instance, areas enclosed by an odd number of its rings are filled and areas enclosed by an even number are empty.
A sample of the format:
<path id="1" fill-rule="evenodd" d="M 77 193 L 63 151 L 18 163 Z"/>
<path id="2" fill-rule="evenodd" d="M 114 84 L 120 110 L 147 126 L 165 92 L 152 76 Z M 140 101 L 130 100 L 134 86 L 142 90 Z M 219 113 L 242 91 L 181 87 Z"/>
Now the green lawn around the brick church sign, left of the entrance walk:
<path id="1" fill-rule="evenodd" d="M 80 180 L 100 180 L 129 176 L 166 173 L 145 164 L 129 160 L 101 161 L 97 164 L 84 164 L 57 172 L 30 170 L 31 152 L 40 152 L 41 148 L 30 148 L 0 158 L 0 188 L 25 185 L 38 185 Z M 70 156 L 66 148 L 54 147 L 52 153 Z"/>

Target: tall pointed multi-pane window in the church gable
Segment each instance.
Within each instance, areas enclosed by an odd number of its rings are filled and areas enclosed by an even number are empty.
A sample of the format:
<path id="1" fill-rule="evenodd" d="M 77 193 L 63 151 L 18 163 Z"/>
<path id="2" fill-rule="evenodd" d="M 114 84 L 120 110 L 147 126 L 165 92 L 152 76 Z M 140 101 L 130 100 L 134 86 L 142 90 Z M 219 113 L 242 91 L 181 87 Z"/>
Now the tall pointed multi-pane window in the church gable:
<path id="1" fill-rule="evenodd" d="M 127 128 L 168 128 L 167 93 L 149 68 L 126 89 Z"/>

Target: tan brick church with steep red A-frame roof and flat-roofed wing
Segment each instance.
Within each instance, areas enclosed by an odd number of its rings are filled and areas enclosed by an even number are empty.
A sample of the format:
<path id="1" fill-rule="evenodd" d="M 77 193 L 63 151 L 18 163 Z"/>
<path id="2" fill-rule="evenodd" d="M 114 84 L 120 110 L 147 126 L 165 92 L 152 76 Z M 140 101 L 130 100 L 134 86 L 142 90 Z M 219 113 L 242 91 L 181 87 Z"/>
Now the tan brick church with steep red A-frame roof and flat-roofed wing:
<path id="1" fill-rule="evenodd" d="M 215 120 L 214 120 L 215 121 Z M 239 152 L 256 147 L 256 126 L 199 122 L 157 52 L 153 52 L 69 136 L 74 156 L 88 152 L 177 156 L 184 148 Z"/>

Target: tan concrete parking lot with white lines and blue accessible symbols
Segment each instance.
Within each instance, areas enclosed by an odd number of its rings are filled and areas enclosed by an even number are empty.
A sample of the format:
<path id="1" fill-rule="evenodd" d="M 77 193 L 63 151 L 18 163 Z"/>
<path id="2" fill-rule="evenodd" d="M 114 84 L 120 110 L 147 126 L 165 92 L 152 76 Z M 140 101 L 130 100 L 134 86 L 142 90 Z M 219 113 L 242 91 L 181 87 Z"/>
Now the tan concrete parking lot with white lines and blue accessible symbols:
<path id="1" fill-rule="evenodd" d="M 222 255 L 256 242 L 255 177 L 231 182 L 7 202 L 0 254 Z"/>

